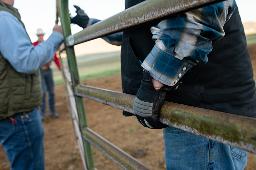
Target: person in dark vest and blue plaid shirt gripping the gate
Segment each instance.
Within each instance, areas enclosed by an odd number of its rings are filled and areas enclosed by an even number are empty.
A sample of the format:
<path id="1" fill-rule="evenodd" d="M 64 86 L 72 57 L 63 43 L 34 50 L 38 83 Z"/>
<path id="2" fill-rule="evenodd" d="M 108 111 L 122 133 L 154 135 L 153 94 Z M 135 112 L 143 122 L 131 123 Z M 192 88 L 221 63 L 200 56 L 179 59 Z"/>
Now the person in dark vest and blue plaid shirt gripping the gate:
<path id="1" fill-rule="evenodd" d="M 125 9 L 143 1 L 126 0 Z M 84 15 L 75 17 L 71 23 L 79 26 Z M 89 27 L 97 21 L 87 20 Z M 247 151 L 167 126 L 158 117 L 164 100 L 256 117 L 255 81 L 236 2 L 125 30 L 120 43 L 123 92 L 136 95 L 133 111 L 140 124 L 163 128 L 166 168 L 243 169 Z"/>

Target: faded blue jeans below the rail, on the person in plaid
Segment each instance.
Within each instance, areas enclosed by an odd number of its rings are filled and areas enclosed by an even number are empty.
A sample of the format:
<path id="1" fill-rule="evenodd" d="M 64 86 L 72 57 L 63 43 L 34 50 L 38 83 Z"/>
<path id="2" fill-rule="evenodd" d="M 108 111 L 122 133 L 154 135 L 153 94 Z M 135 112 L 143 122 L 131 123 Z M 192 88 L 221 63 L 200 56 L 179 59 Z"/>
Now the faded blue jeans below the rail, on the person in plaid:
<path id="1" fill-rule="evenodd" d="M 168 126 L 163 129 L 167 169 L 244 169 L 247 151 Z"/>

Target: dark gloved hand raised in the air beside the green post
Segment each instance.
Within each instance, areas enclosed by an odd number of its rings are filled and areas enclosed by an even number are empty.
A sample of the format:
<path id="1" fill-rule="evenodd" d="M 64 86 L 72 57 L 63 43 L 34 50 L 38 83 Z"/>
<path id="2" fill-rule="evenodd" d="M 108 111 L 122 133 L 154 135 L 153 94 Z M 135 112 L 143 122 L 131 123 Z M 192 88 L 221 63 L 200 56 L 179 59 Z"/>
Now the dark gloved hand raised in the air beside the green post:
<path id="1" fill-rule="evenodd" d="M 74 18 L 70 18 L 71 23 L 76 24 L 81 28 L 86 28 L 90 18 L 80 9 L 80 7 L 74 6 L 74 8 L 76 9 L 75 13 L 77 15 Z"/>

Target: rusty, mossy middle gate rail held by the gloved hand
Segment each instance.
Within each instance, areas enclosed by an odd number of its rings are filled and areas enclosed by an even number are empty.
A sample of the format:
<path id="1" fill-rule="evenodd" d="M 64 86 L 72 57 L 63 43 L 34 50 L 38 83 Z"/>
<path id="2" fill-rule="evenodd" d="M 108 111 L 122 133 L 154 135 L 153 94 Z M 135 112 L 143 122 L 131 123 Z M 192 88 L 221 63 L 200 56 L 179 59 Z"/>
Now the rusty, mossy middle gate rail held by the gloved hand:
<path id="1" fill-rule="evenodd" d="M 78 85 L 75 95 L 132 111 L 135 96 L 111 90 Z M 164 102 L 160 121 L 190 133 L 256 153 L 256 119 Z"/>

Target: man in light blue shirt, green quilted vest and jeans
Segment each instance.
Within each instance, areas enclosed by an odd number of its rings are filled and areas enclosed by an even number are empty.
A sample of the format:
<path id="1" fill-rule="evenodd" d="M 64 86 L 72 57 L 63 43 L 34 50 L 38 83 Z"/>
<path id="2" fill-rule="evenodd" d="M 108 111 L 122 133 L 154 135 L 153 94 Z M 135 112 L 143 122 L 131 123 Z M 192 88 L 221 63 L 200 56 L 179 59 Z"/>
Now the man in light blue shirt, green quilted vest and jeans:
<path id="1" fill-rule="evenodd" d="M 45 168 L 40 67 L 52 60 L 63 35 L 55 25 L 34 47 L 13 5 L 14 0 L 0 0 L 0 142 L 11 169 L 40 170 Z"/>

